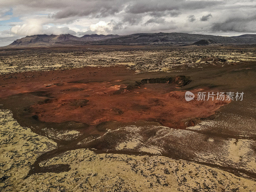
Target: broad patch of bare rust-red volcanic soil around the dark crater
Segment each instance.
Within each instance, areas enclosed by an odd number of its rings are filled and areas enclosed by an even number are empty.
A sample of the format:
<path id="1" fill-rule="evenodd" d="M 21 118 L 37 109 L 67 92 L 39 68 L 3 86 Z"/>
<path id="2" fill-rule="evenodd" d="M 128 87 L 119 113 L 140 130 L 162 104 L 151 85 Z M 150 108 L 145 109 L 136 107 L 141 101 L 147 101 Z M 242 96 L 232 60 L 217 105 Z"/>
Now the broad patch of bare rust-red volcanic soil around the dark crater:
<path id="1" fill-rule="evenodd" d="M 190 119 L 211 116 L 229 102 L 197 101 L 196 98 L 186 101 L 185 91 L 180 91 L 188 80 L 184 76 L 172 77 L 172 82 L 141 82 L 145 78 L 166 75 L 136 74 L 125 67 L 14 73 L 0 76 L 0 98 L 32 94 L 40 101 L 31 103 L 31 116 L 42 122 L 74 121 L 97 125 L 107 121 L 141 120 L 180 129 L 187 127 Z M 196 95 L 203 90 L 190 91 Z M 204 92 L 209 91 L 216 90 L 204 89 Z"/>

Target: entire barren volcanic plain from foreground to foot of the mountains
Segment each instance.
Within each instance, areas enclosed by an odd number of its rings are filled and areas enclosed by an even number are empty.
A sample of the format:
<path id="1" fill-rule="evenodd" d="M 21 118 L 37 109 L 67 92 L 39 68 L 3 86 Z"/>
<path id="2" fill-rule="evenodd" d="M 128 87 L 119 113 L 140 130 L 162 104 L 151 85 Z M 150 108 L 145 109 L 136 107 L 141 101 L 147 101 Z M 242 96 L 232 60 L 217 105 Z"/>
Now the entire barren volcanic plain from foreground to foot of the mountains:
<path id="1" fill-rule="evenodd" d="M 0 188 L 256 191 L 255 76 L 250 45 L 0 49 Z"/>

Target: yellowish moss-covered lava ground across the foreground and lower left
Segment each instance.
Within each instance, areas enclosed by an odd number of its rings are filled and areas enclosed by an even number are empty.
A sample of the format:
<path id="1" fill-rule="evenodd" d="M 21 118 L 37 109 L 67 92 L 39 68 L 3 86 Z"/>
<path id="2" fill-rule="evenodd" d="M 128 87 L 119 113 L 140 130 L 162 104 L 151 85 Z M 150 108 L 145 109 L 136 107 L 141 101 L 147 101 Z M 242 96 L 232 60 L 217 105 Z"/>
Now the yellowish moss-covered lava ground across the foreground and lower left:
<path id="1" fill-rule="evenodd" d="M 0 111 L 2 191 L 255 191 L 256 182 L 196 163 L 162 156 L 68 151 L 40 166 L 69 164 L 70 171 L 27 176 L 40 154 L 56 144 L 21 127 L 9 110 Z"/>

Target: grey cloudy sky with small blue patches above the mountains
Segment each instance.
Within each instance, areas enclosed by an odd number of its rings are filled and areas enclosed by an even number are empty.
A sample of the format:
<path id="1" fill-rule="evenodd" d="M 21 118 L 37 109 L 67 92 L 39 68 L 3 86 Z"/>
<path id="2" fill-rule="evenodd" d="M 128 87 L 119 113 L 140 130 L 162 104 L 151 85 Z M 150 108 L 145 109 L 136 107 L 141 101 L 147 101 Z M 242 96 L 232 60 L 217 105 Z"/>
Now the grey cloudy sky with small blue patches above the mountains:
<path id="1" fill-rule="evenodd" d="M 256 0 L 0 0 L 0 46 L 35 34 L 256 33 Z"/>

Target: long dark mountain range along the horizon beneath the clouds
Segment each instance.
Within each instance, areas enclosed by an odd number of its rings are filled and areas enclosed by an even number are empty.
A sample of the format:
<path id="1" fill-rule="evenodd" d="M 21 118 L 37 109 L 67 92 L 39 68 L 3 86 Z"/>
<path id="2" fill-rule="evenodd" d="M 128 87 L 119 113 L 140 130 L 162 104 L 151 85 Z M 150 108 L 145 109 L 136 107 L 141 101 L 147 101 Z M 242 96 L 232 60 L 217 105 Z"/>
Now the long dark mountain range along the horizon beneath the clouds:
<path id="1" fill-rule="evenodd" d="M 207 43 L 207 42 L 208 43 Z M 197 43 L 199 42 L 199 43 Z M 207 44 L 256 44 L 256 34 L 241 36 L 214 36 L 189 33 L 137 33 L 119 35 L 33 35 L 15 40 L 7 47 L 32 47 L 47 45 L 114 45 L 114 44 L 170 44 L 170 45 L 207 45 Z"/>

